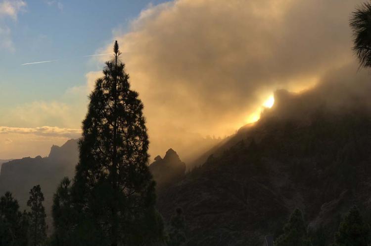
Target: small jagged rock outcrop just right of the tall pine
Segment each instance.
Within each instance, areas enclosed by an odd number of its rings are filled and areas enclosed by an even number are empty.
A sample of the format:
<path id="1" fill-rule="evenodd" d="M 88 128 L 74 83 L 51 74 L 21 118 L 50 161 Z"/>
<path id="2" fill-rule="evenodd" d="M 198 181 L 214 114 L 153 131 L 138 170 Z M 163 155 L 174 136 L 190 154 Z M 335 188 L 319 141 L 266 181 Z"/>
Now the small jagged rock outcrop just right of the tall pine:
<path id="1" fill-rule="evenodd" d="M 180 181 L 185 176 L 185 168 L 185 163 L 181 161 L 173 149 L 169 149 L 163 159 L 161 156 L 157 156 L 149 166 L 157 183 L 157 189 L 164 189 L 166 186 Z"/>

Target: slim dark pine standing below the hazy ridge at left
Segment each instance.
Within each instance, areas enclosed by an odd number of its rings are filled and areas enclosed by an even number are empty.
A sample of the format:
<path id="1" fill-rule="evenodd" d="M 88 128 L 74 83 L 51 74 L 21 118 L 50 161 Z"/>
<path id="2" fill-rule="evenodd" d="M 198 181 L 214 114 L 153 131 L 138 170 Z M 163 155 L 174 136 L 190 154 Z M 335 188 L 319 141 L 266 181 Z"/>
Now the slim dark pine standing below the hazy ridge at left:
<path id="1" fill-rule="evenodd" d="M 29 223 L 32 246 L 39 246 L 46 240 L 46 214 L 43 202 L 44 194 L 41 192 L 40 185 L 36 185 L 30 190 L 30 199 L 27 201 L 27 206 L 31 208 Z"/>

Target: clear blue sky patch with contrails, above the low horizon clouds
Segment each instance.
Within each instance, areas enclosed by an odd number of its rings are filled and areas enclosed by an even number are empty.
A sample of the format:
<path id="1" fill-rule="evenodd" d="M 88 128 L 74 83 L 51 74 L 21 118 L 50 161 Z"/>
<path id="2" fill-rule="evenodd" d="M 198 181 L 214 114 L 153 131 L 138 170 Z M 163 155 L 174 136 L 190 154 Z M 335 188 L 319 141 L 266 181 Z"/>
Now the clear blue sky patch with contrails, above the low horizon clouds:
<path id="1" fill-rule="evenodd" d="M 1 2 L 1 1 L 0 1 Z M 52 100 L 69 87 L 85 83 L 96 70 L 91 55 L 125 31 L 148 4 L 159 0 L 25 0 L 17 19 L 3 17 L 10 29 L 12 49 L 0 50 L 0 105 Z M 23 63 L 54 60 L 43 65 Z M 15 100 L 16 99 L 16 100 Z"/>

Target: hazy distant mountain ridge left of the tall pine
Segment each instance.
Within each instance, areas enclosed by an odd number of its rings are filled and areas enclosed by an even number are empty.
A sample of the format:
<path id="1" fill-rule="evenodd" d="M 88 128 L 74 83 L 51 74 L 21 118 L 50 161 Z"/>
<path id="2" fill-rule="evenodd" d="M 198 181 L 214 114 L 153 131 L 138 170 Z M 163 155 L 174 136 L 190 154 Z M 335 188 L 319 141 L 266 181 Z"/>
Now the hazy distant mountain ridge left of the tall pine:
<path id="1" fill-rule="evenodd" d="M 78 162 L 77 140 L 69 140 L 62 146 L 53 145 L 47 157 L 26 157 L 2 164 L 0 194 L 10 191 L 22 209 L 26 209 L 30 189 L 40 184 L 45 197 L 47 220 L 53 194 L 64 176 L 73 177 Z"/>

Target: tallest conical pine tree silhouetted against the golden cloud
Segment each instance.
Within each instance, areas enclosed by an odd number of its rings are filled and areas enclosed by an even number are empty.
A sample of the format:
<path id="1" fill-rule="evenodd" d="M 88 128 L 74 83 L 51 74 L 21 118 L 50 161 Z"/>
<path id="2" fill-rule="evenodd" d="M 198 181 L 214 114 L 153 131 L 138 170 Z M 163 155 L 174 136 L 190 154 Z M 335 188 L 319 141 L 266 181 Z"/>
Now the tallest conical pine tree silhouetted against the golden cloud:
<path id="1" fill-rule="evenodd" d="M 163 222 L 154 208 L 143 104 L 130 89 L 117 41 L 113 51 L 83 121 L 72 186 L 75 208 L 86 222 L 82 227 L 99 232 L 100 245 L 158 245 L 164 238 Z"/>

